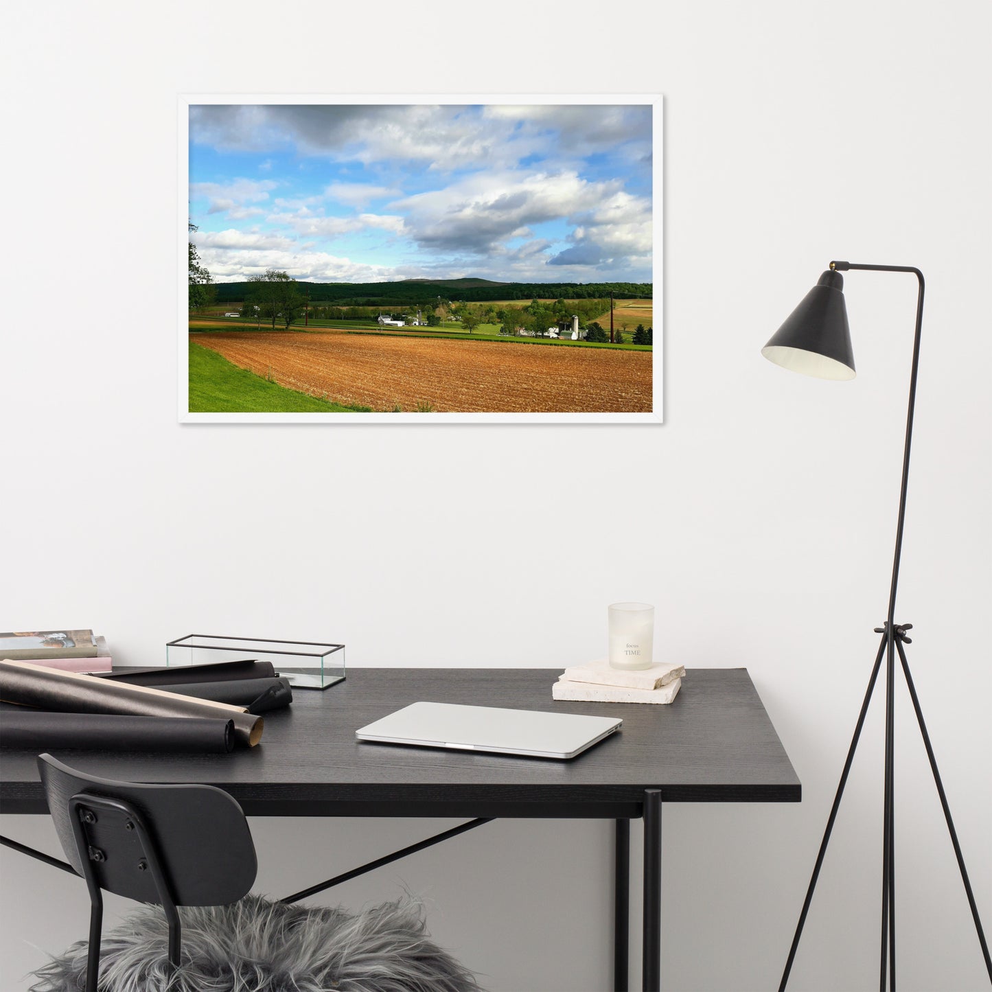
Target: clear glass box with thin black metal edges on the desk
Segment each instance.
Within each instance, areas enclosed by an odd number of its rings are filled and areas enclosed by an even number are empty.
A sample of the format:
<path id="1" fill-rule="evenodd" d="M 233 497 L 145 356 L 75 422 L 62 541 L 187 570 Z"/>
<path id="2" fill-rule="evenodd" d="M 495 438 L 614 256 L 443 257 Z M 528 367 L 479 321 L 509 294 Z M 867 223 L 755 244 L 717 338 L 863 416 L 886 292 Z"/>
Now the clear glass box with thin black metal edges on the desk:
<path id="1" fill-rule="evenodd" d="M 329 688 L 344 681 L 344 645 L 313 641 L 267 641 L 257 637 L 187 634 L 166 645 L 166 665 L 272 662 L 294 688 Z"/>

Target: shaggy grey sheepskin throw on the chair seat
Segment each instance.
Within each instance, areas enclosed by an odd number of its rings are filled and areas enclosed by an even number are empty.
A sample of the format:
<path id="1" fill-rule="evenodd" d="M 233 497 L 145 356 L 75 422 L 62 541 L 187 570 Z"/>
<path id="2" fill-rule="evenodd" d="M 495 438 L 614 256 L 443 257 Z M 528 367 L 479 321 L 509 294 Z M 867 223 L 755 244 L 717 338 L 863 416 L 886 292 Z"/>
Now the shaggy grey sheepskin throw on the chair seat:
<path id="1" fill-rule="evenodd" d="M 160 907 L 143 906 L 106 933 L 100 992 L 480 992 L 429 938 L 416 900 L 352 916 L 248 896 L 231 906 L 183 907 L 180 916 L 183 961 L 175 972 Z M 84 989 L 86 941 L 35 977 L 31 992 Z"/>

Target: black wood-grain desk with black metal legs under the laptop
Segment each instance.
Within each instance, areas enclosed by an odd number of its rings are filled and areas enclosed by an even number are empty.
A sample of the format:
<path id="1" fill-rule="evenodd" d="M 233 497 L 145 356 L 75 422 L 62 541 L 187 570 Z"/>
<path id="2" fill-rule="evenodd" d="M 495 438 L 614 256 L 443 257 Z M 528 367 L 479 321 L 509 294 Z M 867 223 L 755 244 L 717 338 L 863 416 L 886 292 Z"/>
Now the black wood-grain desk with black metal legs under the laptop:
<path id="1" fill-rule="evenodd" d="M 517 816 L 616 820 L 615 979 L 627 982 L 630 819 L 644 817 L 644 989 L 659 987 L 662 803 L 798 803 L 801 786 L 745 669 L 693 669 L 670 705 L 555 702 L 558 670 L 359 669 L 298 690 L 262 743 L 230 755 L 70 752 L 107 778 L 199 782 L 255 816 Z M 356 728 L 409 702 L 619 716 L 572 761 L 359 743 Z M 35 756 L 5 752 L 0 811 L 47 812 Z"/>

